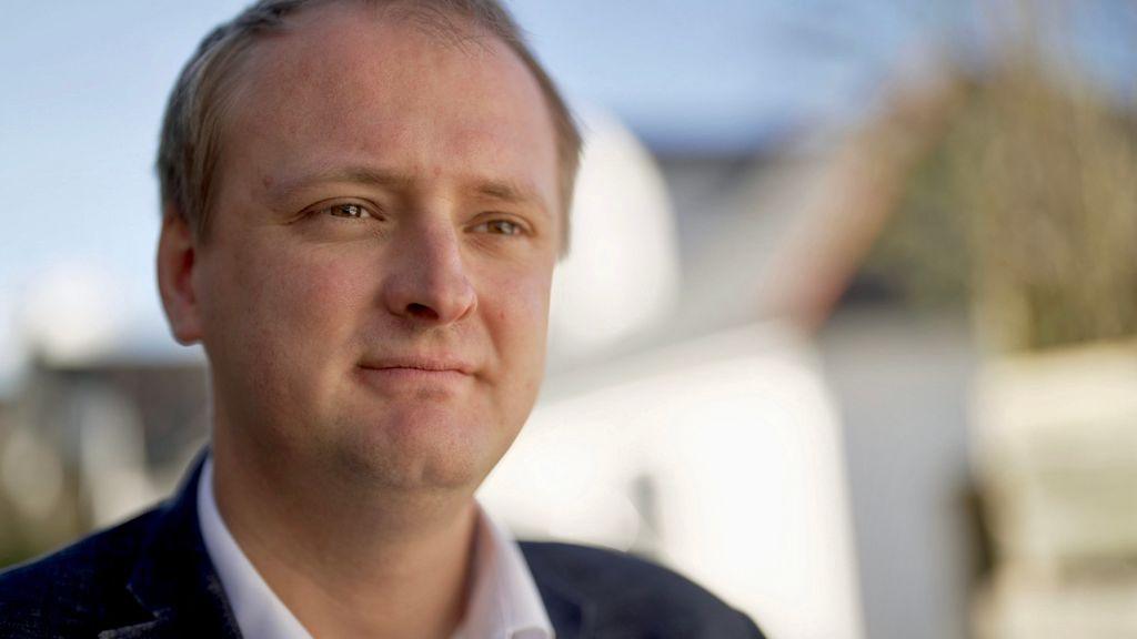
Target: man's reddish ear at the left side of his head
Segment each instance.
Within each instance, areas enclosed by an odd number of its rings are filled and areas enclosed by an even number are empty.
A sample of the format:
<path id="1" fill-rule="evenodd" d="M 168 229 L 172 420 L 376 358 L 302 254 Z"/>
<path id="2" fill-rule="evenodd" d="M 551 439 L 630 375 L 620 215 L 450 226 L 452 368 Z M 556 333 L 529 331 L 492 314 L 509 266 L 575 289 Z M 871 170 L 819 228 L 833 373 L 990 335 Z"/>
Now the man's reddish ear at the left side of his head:
<path id="1" fill-rule="evenodd" d="M 158 238 L 158 290 L 169 330 L 179 343 L 201 341 L 201 316 L 193 284 L 197 243 L 190 225 L 175 210 L 164 211 Z"/>

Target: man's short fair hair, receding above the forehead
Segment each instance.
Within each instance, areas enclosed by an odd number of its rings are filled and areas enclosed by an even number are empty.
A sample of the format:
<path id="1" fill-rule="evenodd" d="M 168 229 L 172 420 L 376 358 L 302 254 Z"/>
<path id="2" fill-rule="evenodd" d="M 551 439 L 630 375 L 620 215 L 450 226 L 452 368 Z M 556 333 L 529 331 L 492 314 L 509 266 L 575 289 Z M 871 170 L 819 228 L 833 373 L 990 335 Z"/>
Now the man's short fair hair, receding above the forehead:
<path id="1" fill-rule="evenodd" d="M 279 33 L 297 11 L 333 1 L 259 0 L 201 41 L 171 92 L 158 148 L 164 215 L 181 216 L 199 239 L 208 235 L 225 115 L 234 101 L 236 73 L 248 51 Z M 553 116 L 558 156 L 562 252 L 568 246 L 568 209 L 580 165 L 581 135 L 553 78 L 529 49 L 498 0 L 355 0 L 399 9 L 399 17 L 428 33 L 463 39 L 470 26 L 504 42 L 532 73 Z M 456 25 L 451 18 L 465 20 Z"/>

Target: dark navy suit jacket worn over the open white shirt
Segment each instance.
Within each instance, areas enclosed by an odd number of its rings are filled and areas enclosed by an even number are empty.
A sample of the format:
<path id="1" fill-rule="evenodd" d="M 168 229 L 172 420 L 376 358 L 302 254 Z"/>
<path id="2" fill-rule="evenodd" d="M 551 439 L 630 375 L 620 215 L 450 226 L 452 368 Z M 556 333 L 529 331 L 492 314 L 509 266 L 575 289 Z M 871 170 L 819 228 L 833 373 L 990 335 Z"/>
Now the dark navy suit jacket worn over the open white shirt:
<path id="1" fill-rule="evenodd" d="M 199 463 L 168 501 L 0 573 L 0 638 L 240 637 L 198 528 Z M 754 623 L 628 555 L 521 545 L 558 639 L 748 638 Z"/>

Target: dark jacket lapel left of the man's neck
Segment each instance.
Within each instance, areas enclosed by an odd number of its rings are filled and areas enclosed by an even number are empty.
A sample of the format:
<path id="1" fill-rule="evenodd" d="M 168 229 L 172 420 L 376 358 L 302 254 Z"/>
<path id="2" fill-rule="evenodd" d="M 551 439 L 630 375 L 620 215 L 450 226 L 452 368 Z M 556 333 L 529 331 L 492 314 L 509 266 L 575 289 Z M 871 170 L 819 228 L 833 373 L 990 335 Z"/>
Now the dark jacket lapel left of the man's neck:
<path id="1" fill-rule="evenodd" d="M 161 506 L 126 584 L 151 619 L 106 630 L 100 639 L 240 639 L 198 524 L 197 487 L 205 456 L 198 456 L 175 496 Z"/>

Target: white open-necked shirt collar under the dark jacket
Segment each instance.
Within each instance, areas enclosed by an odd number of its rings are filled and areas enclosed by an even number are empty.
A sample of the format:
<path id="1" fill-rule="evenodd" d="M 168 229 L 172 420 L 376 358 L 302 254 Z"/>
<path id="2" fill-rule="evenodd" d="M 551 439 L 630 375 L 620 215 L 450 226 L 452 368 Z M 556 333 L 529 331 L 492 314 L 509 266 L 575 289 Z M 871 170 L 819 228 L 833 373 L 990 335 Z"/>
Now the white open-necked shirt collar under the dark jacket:
<path id="1" fill-rule="evenodd" d="M 198 521 L 209 558 L 246 639 L 312 639 L 268 588 L 221 517 L 213 490 L 213 458 L 198 482 Z M 474 581 L 466 616 L 454 639 L 554 639 L 553 624 L 516 541 L 481 506 Z"/>

